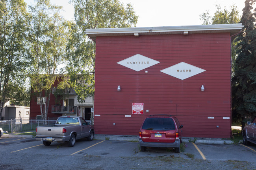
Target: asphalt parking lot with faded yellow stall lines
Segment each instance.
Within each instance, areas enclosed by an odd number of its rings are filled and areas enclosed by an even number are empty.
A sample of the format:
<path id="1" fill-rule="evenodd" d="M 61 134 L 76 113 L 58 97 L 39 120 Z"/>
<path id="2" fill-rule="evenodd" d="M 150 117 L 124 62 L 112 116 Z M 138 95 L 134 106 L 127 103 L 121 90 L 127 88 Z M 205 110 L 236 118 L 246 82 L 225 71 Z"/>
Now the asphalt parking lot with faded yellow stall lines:
<path id="1" fill-rule="evenodd" d="M 184 152 L 138 142 L 85 139 L 44 146 L 33 138 L 0 138 L 0 169 L 237 169 L 256 170 L 256 145 L 184 143 Z"/>

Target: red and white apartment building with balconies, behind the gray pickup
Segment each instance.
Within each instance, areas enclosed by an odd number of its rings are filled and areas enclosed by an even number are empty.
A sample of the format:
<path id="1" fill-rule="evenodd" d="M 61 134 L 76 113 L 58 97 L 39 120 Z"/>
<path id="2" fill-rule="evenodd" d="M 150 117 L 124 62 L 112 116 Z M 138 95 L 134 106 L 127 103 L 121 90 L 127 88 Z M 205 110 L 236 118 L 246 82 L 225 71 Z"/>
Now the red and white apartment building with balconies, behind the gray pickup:
<path id="1" fill-rule="evenodd" d="M 76 92 L 72 87 L 66 87 L 60 91 L 57 89 L 58 82 L 59 81 L 56 79 L 51 90 L 48 120 L 55 120 L 59 116 L 79 116 L 87 121 L 91 121 L 93 98 L 89 97 L 85 102 L 80 103 L 77 99 Z M 43 102 L 46 102 L 46 97 L 43 97 Z M 42 119 L 40 97 L 39 95 L 37 96 L 36 93 L 31 95 L 30 119 Z"/>

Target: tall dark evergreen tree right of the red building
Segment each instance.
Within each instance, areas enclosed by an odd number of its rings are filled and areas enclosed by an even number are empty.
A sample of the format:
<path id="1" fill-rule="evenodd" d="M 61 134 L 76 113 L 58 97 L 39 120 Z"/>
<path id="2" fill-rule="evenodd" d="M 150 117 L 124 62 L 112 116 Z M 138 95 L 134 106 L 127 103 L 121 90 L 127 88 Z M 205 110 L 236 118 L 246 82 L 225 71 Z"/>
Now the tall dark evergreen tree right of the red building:
<path id="1" fill-rule="evenodd" d="M 235 121 L 245 121 L 256 116 L 256 0 L 245 0 L 241 23 L 244 27 L 237 38 L 237 59 L 232 78 L 232 115 Z"/>

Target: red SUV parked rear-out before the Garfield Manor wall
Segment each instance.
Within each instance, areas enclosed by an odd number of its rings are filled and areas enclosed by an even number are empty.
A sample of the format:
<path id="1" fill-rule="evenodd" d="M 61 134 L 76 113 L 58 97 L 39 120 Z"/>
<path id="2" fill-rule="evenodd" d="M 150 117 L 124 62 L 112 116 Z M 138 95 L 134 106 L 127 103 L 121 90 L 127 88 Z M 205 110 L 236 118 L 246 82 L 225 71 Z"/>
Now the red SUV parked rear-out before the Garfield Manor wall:
<path id="1" fill-rule="evenodd" d="M 173 115 L 150 115 L 142 123 L 139 132 L 141 151 L 147 147 L 174 148 L 180 153 L 183 125 Z"/>

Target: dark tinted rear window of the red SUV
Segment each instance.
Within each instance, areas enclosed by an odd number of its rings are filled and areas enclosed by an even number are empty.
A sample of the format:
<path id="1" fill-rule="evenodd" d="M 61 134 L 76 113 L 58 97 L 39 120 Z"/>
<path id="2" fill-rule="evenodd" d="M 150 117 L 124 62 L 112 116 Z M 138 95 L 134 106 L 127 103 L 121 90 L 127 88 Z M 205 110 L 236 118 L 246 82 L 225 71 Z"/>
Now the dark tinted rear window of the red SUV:
<path id="1" fill-rule="evenodd" d="M 165 117 L 148 117 L 142 129 L 145 130 L 175 130 L 173 119 Z"/>

